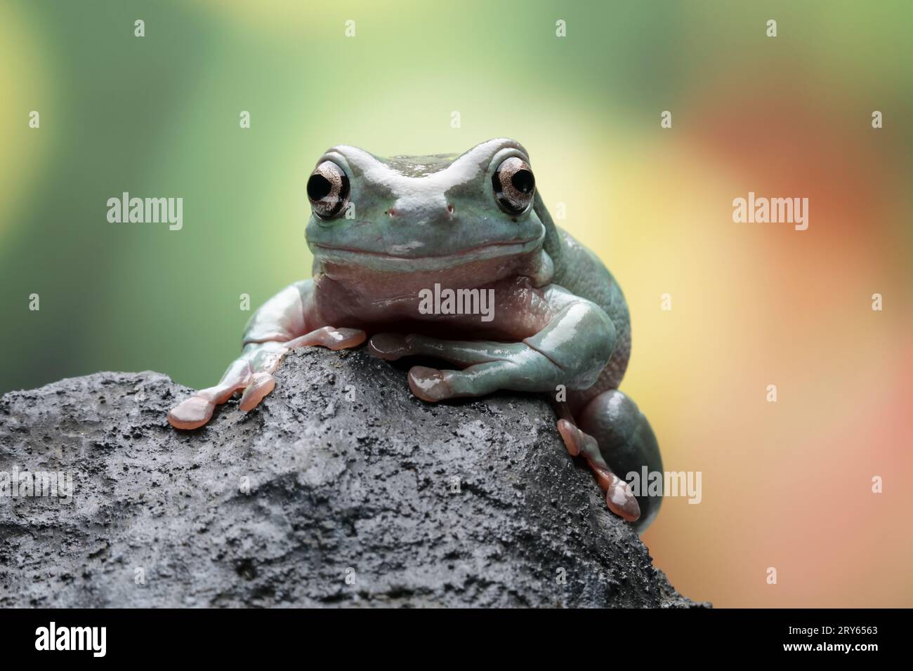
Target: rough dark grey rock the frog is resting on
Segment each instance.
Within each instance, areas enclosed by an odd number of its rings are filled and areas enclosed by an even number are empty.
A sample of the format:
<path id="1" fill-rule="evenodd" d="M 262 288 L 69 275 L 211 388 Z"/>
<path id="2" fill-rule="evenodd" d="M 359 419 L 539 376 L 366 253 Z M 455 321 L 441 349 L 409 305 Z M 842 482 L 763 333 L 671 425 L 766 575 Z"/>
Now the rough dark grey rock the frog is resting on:
<path id="1" fill-rule="evenodd" d="M 424 404 L 361 350 L 293 351 L 277 377 L 190 433 L 165 420 L 189 390 L 160 373 L 7 393 L 0 471 L 69 472 L 75 493 L 0 498 L 0 606 L 696 605 L 544 401 Z"/>

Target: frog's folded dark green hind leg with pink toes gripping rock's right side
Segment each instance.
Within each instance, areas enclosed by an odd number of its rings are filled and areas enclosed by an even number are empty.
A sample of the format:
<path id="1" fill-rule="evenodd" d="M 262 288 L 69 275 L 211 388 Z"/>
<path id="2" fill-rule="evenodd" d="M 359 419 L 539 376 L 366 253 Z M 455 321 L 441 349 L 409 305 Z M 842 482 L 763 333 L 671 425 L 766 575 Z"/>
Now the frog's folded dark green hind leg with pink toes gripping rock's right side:
<path id="1" fill-rule="evenodd" d="M 649 473 L 663 472 L 656 435 L 644 414 L 617 389 L 594 396 L 575 417 L 566 405 L 559 407 L 559 414 L 558 431 L 564 445 L 572 455 L 586 459 L 606 493 L 608 507 L 635 522 L 638 531 L 646 529 L 659 512 L 662 496 L 649 496 L 646 483 L 635 496 L 623 479 L 631 472 L 641 477 L 643 467 Z"/>

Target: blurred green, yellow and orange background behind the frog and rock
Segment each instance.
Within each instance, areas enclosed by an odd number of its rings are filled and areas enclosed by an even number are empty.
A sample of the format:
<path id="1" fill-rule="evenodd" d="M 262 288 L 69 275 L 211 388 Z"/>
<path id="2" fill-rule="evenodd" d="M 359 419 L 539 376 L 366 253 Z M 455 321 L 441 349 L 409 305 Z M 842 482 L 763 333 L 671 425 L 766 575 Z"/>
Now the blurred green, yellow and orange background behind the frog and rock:
<path id="1" fill-rule="evenodd" d="M 320 152 L 509 136 L 624 288 L 622 389 L 666 469 L 702 472 L 700 504 L 666 499 L 645 533 L 656 565 L 717 606 L 913 606 L 911 21 L 905 1 L 4 2 L 0 393 L 215 383 L 240 294 L 310 276 Z M 124 191 L 183 197 L 183 230 L 110 224 Z M 733 223 L 750 191 L 808 197 L 808 230 Z"/>

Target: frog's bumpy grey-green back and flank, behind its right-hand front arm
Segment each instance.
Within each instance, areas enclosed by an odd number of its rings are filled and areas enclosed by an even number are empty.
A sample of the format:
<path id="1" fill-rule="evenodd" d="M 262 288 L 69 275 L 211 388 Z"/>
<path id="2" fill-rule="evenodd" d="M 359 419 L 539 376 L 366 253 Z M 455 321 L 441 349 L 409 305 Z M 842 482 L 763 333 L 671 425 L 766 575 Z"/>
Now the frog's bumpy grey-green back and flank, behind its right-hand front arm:
<path id="1" fill-rule="evenodd" d="M 557 228 L 561 238 L 561 255 L 555 264 L 553 282 L 605 310 L 615 326 L 617 344 L 599 380 L 585 395 L 591 397 L 617 389 L 631 356 L 631 317 L 618 283 L 603 262 L 582 246 L 571 234 Z"/>

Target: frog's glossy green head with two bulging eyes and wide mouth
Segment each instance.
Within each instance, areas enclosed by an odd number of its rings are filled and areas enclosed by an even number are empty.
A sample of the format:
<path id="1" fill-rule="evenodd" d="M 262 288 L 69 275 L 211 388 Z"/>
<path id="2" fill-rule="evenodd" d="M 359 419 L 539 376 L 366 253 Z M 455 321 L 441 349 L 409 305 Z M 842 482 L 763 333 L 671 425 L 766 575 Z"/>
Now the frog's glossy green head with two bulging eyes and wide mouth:
<path id="1" fill-rule="evenodd" d="M 516 271 L 517 259 L 542 254 L 535 188 L 530 158 L 511 140 L 460 156 L 389 159 L 333 147 L 308 179 L 315 271 L 363 277 L 464 268 L 457 275 L 465 280 L 471 269 L 474 283 L 493 281 Z"/>

